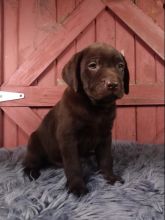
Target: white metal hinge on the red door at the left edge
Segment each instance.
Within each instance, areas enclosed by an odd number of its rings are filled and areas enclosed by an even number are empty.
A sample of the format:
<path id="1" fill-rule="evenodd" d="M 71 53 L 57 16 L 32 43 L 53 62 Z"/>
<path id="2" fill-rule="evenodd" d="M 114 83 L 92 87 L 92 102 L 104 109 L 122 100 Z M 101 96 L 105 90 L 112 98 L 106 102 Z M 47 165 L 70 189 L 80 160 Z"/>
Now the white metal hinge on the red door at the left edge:
<path id="1" fill-rule="evenodd" d="M 24 93 L 0 91 L 0 102 L 23 99 Z"/>

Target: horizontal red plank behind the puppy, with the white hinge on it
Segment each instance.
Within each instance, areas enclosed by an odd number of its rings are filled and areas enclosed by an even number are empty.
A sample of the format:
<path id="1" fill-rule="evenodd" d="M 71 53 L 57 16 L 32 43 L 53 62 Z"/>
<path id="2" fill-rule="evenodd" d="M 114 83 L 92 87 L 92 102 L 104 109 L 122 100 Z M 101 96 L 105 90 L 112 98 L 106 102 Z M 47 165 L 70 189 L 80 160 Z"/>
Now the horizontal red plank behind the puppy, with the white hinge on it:
<path id="1" fill-rule="evenodd" d="M 53 106 L 62 96 L 66 86 L 55 87 L 1 87 L 0 90 L 21 92 L 25 99 L 0 102 L 2 106 Z M 130 94 L 125 95 L 117 104 L 119 106 L 164 105 L 164 85 L 131 85 Z"/>

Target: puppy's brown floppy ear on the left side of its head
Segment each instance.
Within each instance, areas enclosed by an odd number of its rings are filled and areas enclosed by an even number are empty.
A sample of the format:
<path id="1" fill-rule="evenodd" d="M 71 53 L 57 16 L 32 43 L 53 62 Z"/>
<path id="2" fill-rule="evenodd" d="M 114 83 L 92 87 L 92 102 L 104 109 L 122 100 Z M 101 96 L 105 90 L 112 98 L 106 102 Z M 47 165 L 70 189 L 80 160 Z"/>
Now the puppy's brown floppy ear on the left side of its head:
<path id="1" fill-rule="evenodd" d="M 75 91 L 78 91 L 79 79 L 80 79 L 80 62 L 82 58 L 82 52 L 78 52 L 72 56 L 69 62 L 64 66 L 62 70 L 63 80 Z"/>

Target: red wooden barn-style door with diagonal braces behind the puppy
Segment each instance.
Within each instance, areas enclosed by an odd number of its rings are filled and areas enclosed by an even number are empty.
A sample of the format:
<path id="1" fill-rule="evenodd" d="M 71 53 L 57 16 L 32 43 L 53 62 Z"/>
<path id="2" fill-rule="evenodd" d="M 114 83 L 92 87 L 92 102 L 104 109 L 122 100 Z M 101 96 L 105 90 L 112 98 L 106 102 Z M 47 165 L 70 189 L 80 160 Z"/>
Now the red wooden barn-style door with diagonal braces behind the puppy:
<path id="1" fill-rule="evenodd" d="M 128 0 L 10 0 L 1 1 L 0 7 L 0 91 L 25 95 L 0 102 L 1 146 L 26 143 L 62 95 L 63 65 L 95 41 L 122 51 L 131 73 L 130 95 L 118 102 L 114 138 L 164 141 L 164 34 L 135 4 Z"/>

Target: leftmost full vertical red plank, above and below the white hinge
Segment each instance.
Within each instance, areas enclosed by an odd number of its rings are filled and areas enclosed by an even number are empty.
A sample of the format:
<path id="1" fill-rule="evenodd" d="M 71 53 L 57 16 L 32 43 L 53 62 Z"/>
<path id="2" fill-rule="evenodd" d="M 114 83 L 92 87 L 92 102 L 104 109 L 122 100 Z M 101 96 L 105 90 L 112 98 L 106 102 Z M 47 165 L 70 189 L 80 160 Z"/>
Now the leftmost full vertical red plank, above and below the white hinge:
<path id="1" fill-rule="evenodd" d="M 4 3 L 4 68 L 3 80 L 7 80 L 18 66 L 18 1 Z M 4 146 L 17 145 L 17 126 L 4 114 Z"/>

